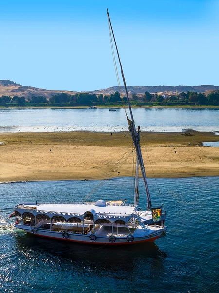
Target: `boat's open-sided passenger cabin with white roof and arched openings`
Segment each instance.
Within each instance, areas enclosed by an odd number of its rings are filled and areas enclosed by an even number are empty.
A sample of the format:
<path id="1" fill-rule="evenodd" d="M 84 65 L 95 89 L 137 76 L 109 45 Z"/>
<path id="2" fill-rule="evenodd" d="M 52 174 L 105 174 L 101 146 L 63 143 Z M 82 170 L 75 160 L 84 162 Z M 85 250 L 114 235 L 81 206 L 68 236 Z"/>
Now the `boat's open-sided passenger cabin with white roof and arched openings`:
<path id="1" fill-rule="evenodd" d="M 138 205 L 97 202 L 23 203 L 15 207 L 17 224 L 37 230 L 99 236 L 129 235 L 136 229 Z"/>

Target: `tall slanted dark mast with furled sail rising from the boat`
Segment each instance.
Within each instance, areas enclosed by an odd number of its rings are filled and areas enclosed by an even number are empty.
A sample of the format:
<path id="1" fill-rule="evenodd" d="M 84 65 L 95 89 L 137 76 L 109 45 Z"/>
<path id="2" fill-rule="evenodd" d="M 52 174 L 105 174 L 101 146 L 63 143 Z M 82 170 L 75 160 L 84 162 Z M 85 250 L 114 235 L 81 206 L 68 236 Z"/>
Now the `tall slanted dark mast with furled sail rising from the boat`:
<path id="1" fill-rule="evenodd" d="M 126 96 L 127 96 L 127 101 L 128 101 L 128 107 L 129 107 L 129 111 L 130 111 L 130 115 L 131 115 L 131 120 L 128 119 L 128 117 L 127 117 L 128 125 L 129 125 L 128 128 L 129 128 L 129 131 L 130 131 L 130 134 L 131 134 L 131 137 L 132 137 L 132 140 L 133 140 L 135 149 L 136 149 L 137 158 L 138 158 L 138 161 L 139 161 L 139 166 L 140 166 L 141 173 L 142 173 L 142 177 L 143 177 L 143 181 L 144 181 L 144 184 L 145 184 L 146 195 L 147 195 L 147 208 L 150 209 L 152 207 L 152 205 L 151 205 L 149 188 L 148 188 L 148 185 L 147 185 L 145 166 L 144 166 L 144 162 L 143 162 L 143 158 L 142 158 L 142 152 L 141 152 L 141 147 L 140 147 L 140 127 L 138 126 L 138 131 L 137 131 L 136 130 L 136 127 L 135 127 L 135 122 L 134 122 L 133 114 L 132 114 L 130 100 L 129 100 L 129 97 L 128 97 L 128 90 L 127 90 L 126 80 L 125 80 L 124 73 L 123 73 L 123 67 L 122 67 L 122 63 L 121 63 L 120 57 L 119 57 L 119 51 L 118 51 L 118 48 L 117 48 L 117 44 L 116 44 L 114 32 L 113 32 L 113 29 L 112 29 L 112 24 L 111 24 L 111 21 L 110 21 L 110 15 L 109 15 L 108 9 L 107 9 L 107 16 L 108 16 L 108 20 L 109 20 L 109 23 L 110 23 L 110 28 L 111 28 L 113 40 L 114 40 L 114 43 L 115 43 L 115 48 L 116 48 L 117 56 L 118 56 L 118 59 L 119 59 L 119 64 L 120 64 L 120 68 L 121 68 L 121 74 L 122 74 L 123 83 L 124 83 L 124 87 L 125 87 L 125 91 L 126 91 Z"/>

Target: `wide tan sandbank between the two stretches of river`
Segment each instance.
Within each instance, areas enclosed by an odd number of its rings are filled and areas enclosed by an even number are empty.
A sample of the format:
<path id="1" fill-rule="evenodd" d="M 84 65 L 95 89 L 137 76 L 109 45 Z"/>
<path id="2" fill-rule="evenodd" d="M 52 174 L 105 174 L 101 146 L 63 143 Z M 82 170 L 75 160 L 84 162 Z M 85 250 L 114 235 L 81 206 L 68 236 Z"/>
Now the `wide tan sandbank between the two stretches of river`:
<path id="1" fill-rule="evenodd" d="M 142 133 L 147 176 L 153 177 L 150 163 L 156 177 L 219 176 L 219 148 L 195 146 L 219 137 L 191 134 Z M 0 182 L 132 176 L 128 132 L 0 133 L 0 142 Z"/>

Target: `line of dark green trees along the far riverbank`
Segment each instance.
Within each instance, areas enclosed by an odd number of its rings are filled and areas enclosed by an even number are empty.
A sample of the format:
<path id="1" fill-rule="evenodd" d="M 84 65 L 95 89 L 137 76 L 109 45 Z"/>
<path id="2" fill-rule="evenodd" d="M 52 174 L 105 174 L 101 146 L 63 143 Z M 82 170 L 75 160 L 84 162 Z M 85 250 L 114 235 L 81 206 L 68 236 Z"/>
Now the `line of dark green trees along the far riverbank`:
<path id="1" fill-rule="evenodd" d="M 132 94 L 130 97 L 132 105 L 219 105 L 219 90 L 209 94 L 197 92 L 181 92 L 179 94 L 158 95 L 145 92 L 144 96 Z M 90 105 L 127 105 L 127 97 L 120 96 L 116 91 L 114 94 L 91 94 L 77 93 L 69 95 L 66 93 L 56 94 L 47 99 L 44 96 L 10 97 L 1 96 L 0 106 L 90 106 Z"/>

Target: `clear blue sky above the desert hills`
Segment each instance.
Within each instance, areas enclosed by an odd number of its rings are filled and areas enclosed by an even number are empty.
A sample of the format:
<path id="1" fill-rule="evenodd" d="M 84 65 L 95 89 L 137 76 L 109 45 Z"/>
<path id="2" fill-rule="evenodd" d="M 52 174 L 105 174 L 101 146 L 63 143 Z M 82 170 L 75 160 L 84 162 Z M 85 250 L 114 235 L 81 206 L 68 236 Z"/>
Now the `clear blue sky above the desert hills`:
<path id="1" fill-rule="evenodd" d="M 118 85 L 106 7 L 127 85 L 219 85 L 219 0 L 1 0 L 0 79 Z"/>

